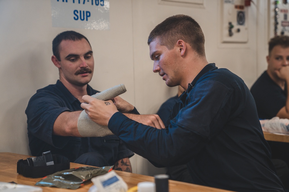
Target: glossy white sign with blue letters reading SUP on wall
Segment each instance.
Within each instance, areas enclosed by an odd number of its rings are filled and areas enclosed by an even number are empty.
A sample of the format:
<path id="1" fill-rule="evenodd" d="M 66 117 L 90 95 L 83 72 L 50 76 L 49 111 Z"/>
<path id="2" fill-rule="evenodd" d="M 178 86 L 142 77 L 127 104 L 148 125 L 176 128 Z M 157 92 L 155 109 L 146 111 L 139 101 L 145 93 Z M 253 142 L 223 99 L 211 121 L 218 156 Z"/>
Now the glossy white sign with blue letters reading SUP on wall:
<path id="1" fill-rule="evenodd" d="M 51 0 L 53 27 L 108 30 L 109 0 Z"/>

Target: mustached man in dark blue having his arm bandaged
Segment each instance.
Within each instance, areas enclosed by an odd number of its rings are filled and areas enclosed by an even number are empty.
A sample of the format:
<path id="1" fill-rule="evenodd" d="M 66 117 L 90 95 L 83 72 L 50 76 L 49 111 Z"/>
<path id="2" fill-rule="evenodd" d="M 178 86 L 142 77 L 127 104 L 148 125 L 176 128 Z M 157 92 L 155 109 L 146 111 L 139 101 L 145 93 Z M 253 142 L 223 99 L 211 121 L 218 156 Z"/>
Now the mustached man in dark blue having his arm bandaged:
<path id="1" fill-rule="evenodd" d="M 59 70 L 59 80 L 37 90 L 29 100 L 27 129 L 33 156 L 51 151 L 71 162 L 91 166 L 113 166 L 131 172 L 129 157 L 134 155 L 115 135 L 82 137 L 77 120 L 82 111 L 82 96 L 93 95 L 88 83 L 94 69 L 93 52 L 86 37 L 64 31 L 52 42 L 51 60 Z"/>

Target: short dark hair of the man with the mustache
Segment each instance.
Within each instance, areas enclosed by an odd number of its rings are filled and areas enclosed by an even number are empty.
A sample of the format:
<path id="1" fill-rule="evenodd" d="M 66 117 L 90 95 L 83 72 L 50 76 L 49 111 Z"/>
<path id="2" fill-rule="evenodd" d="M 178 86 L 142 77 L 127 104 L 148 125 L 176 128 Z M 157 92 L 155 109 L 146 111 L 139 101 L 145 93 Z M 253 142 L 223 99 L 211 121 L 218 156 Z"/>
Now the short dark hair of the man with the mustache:
<path id="1" fill-rule="evenodd" d="M 90 45 L 88 39 L 84 35 L 81 35 L 80 33 L 77 33 L 75 31 L 64 31 L 62 33 L 59 33 L 52 41 L 53 55 L 57 58 L 58 61 L 60 61 L 59 45 L 61 41 L 63 40 L 79 41 L 81 39 L 85 39 Z"/>

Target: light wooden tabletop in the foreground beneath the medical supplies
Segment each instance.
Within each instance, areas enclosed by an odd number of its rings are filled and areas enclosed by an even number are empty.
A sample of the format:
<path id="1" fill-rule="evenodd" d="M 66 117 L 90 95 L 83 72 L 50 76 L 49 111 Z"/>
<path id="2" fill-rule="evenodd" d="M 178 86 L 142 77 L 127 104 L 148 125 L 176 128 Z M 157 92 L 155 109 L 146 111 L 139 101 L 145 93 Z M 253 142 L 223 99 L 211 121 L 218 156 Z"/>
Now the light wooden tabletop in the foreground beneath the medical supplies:
<path id="1" fill-rule="evenodd" d="M 0 181 L 1 182 L 15 182 L 17 184 L 23 185 L 35 185 L 41 178 L 27 178 L 17 173 L 17 161 L 19 159 L 26 159 L 27 157 L 32 157 L 28 155 L 21 155 L 16 153 L 0 153 Z M 83 167 L 85 165 L 70 163 L 70 168 Z M 115 171 L 119 176 L 123 178 L 123 180 L 127 183 L 128 188 L 136 186 L 139 182 L 142 181 L 151 181 L 154 182 L 154 177 Z M 41 187 L 44 192 L 87 192 L 88 189 L 92 186 L 91 181 L 86 181 L 85 185 L 76 189 L 60 189 L 55 187 Z M 201 185 L 194 185 L 190 183 L 184 183 L 179 181 L 169 180 L 169 191 L 170 192 L 225 192 L 223 189 L 216 189 L 211 187 L 205 187 Z"/>

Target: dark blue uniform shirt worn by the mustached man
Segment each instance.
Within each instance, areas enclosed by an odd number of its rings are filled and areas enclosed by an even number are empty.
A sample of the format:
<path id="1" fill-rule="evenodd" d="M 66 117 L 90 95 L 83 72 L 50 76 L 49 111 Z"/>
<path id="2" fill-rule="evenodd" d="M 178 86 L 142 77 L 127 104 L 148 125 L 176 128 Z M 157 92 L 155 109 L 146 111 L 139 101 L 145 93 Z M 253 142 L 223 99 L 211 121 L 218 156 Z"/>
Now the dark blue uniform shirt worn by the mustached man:
<path id="1" fill-rule="evenodd" d="M 88 95 L 99 91 L 87 85 Z M 88 152 L 101 154 L 110 165 L 134 153 L 115 135 L 105 137 L 73 137 L 52 134 L 55 119 L 64 111 L 83 110 L 80 102 L 58 80 L 54 85 L 37 90 L 25 110 L 29 148 L 33 156 L 51 151 L 67 157 L 71 162 Z"/>

